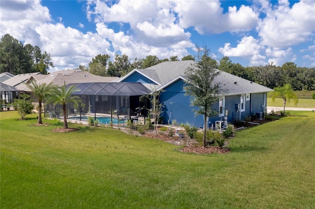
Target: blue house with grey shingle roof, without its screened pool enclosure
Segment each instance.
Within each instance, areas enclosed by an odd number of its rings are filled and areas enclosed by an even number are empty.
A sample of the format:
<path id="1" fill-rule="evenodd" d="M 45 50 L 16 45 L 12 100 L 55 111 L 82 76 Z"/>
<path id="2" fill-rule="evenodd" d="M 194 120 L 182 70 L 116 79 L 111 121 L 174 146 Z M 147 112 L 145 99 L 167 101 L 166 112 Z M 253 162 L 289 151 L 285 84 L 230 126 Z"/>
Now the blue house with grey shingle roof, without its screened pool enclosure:
<path id="1" fill-rule="evenodd" d="M 162 89 L 160 102 L 164 104 L 163 123 L 169 124 L 176 120 L 177 123 L 189 123 L 190 126 L 203 127 L 203 115 L 195 115 L 190 106 L 190 96 L 185 96 L 184 85 L 185 71 L 194 63 L 187 61 L 166 61 L 146 69 L 134 69 L 119 82 L 141 82 L 150 89 Z M 215 82 L 220 82 L 222 88 L 227 90 L 225 96 L 213 106 L 218 115 L 209 118 L 209 126 L 216 126 L 216 121 L 244 120 L 251 115 L 262 116 L 267 107 L 267 92 L 270 88 L 254 83 L 250 80 L 221 71 Z M 226 111 L 227 110 L 227 111 Z"/>

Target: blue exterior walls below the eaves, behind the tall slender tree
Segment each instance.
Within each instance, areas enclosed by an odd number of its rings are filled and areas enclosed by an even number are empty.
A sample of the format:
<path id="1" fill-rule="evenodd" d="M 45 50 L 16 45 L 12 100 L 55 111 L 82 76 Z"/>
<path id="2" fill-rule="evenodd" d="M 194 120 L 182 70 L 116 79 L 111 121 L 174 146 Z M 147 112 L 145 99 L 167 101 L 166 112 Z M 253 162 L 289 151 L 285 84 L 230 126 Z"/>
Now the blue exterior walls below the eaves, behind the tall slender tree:
<path id="1" fill-rule="evenodd" d="M 172 123 L 176 120 L 178 124 L 189 123 L 190 126 L 203 127 L 203 115 L 195 116 L 193 109 L 198 107 L 190 106 L 190 96 L 185 96 L 185 91 L 183 87 L 185 82 L 179 79 L 163 89 L 160 96 L 160 101 L 164 104 L 163 113 L 163 123 Z M 227 121 L 233 122 L 234 120 L 242 120 L 250 115 L 256 114 L 256 112 L 262 112 L 261 107 L 264 104 L 264 93 L 251 94 L 250 100 L 245 99 L 245 111 L 240 112 L 236 109 L 236 104 L 240 103 L 241 95 L 231 95 L 225 96 L 225 110 L 228 110 Z M 266 105 L 266 104 L 265 104 Z M 213 109 L 219 111 L 219 101 L 212 106 Z M 216 121 L 223 121 L 224 116 L 217 116 L 209 118 L 208 126 L 211 124 L 215 126 Z"/>

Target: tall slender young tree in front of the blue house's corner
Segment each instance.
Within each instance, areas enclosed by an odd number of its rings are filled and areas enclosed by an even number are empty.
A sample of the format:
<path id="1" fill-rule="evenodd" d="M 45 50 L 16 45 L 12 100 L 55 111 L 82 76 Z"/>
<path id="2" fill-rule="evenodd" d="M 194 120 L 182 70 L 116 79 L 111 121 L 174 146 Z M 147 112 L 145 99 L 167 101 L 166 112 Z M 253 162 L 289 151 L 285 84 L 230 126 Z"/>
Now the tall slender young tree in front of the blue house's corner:
<path id="1" fill-rule="evenodd" d="M 184 87 L 186 95 L 191 96 L 191 106 L 197 106 L 194 110 L 197 115 L 204 115 L 203 146 L 206 146 L 207 118 L 217 114 L 212 105 L 219 101 L 223 94 L 221 84 L 215 82 L 220 75 L 217 70 L 217 60 L 209 56 L 210 50 L 197 47 L 197 60 L 188 67 L 185 76 L 187 85 Z"/>

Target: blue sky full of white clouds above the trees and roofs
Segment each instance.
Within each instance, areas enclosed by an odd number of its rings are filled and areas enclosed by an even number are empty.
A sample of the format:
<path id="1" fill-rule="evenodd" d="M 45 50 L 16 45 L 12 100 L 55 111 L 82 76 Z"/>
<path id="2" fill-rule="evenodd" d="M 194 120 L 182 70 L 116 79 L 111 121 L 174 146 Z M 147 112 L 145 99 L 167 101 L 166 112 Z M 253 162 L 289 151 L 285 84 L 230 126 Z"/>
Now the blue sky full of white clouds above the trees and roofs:
<path id="1" fill-rule="evenodd" d="M 1 0 L 0 22 L 1 36 L 50 53 L 51 72 L 97 54 L 181 59 L 196 44 L 243 66 L 315 67 L 314 0 Z"/>

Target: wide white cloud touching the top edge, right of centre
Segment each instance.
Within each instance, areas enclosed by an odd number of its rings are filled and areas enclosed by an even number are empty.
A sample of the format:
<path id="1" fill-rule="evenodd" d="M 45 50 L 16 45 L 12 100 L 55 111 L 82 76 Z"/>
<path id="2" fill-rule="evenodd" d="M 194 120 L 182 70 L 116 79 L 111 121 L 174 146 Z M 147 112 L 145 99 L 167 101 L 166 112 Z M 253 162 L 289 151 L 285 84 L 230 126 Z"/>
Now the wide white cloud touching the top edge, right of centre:
<path id="1" fill-rule="evenodd" d="M 259 20 L 258 13 L 249 6 L 242 5 L 239 10 L 235 6 L 229 7 L 228 12 L 223 14 L 218 0 L 175 2 L 179 25 L 184 28 L 193 26 L 200 34 L 249 31 Z"/>

